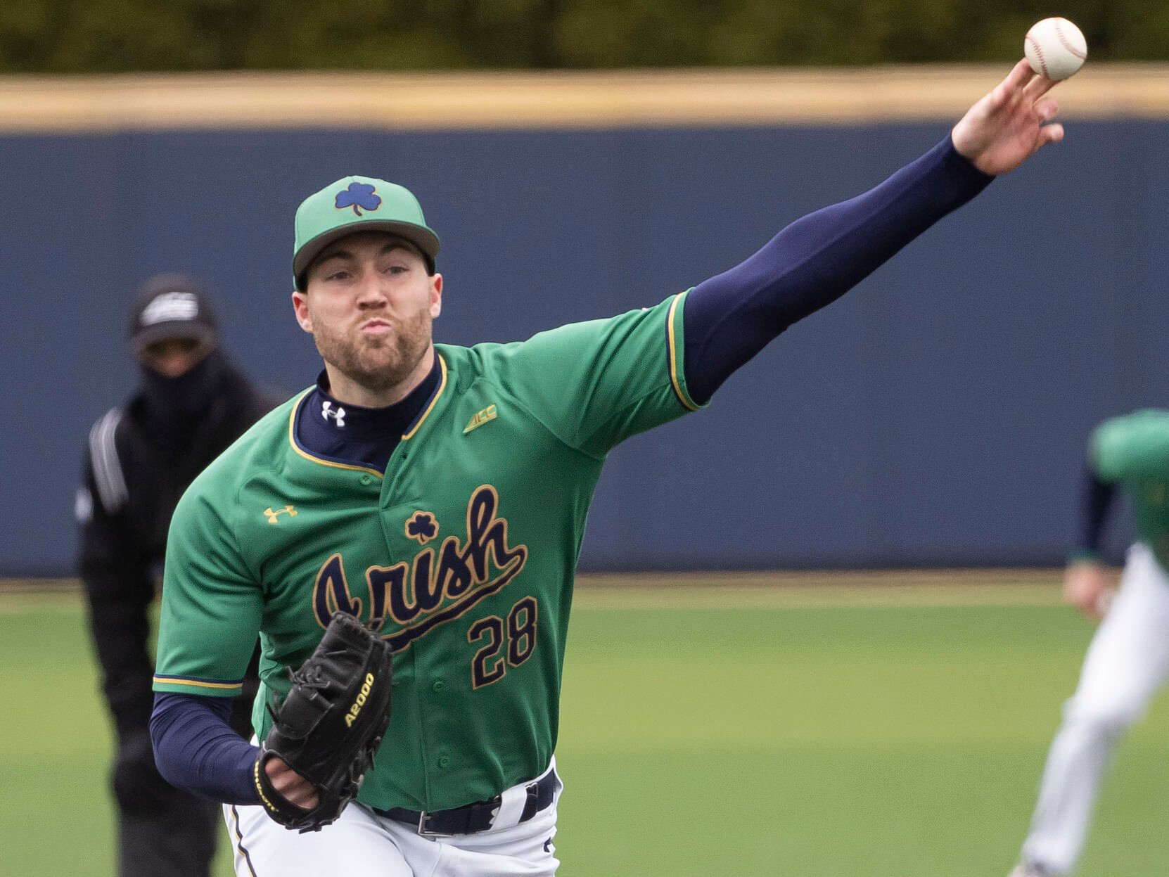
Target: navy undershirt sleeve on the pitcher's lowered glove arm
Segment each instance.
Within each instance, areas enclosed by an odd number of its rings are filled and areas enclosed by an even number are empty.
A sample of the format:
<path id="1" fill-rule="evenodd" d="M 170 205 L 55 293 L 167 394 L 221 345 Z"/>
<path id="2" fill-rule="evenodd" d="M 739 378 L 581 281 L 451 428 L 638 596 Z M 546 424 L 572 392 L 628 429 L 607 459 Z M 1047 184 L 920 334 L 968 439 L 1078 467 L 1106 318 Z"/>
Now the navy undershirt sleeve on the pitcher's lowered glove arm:
<path id="1" fill-rule="evenodd" d="M 260 748 L 228 724 L 231 698 L 154 695 L 154 761 L 172 786 L 213 801 L 260 803 L 251 768 Z"/>

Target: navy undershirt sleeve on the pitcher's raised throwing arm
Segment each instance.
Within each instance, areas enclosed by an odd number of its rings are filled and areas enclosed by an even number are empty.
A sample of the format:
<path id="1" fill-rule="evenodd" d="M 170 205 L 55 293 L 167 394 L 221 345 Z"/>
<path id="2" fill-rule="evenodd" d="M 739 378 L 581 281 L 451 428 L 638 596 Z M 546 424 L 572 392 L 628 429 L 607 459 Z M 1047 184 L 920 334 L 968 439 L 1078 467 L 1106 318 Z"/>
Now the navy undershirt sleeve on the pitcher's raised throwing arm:
<path id="1" fill-rule="evenodd" d="M 947 136 L 876 188 L 796 220 L 746 262 L 700 283 L 683 312 L 691 398 L 710 401 L 780 332 L 835 302 L 992 179 Z"/>

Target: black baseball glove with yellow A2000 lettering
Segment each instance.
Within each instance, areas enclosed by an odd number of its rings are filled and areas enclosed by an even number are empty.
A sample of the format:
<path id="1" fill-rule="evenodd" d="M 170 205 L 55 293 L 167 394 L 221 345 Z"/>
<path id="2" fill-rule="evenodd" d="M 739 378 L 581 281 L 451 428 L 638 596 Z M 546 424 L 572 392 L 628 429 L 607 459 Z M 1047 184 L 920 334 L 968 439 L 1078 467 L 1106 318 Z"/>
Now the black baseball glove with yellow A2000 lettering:
<path id="1" fill-rule="evenodd" d="M 268 815 L 285 828 L 319 831 L 341 815 L 373 764 L 389 724 L 389 644 L 352 615 L 336 613 L 316 651 L 292 674 L 292 688 L 261 746 L 254 775 Z M 264 765 L 279 758 L 309 780 L 312 809 L 281 795 Z"/>

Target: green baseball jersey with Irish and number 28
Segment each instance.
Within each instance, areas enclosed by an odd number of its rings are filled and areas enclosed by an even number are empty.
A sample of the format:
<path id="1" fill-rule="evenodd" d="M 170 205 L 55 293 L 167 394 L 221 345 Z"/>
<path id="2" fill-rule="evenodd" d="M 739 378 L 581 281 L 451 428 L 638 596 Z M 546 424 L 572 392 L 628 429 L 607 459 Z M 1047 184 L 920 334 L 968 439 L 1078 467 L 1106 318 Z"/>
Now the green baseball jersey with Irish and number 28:
<path id="1" fill-rule="evenodd" d="M 258 631 L 263 737 L 333 612 L 381 620 L 393 716 L 359 800 L 436 810 L 552 758 L 573 578 L 608 451 L 698 408 L 685 294 L 516 344 L 436 345 L 429 407 L 374 469 L 314 457 L 304 395 L 182 497 L 164 574 L 155 691 L 234 696 Z"/>

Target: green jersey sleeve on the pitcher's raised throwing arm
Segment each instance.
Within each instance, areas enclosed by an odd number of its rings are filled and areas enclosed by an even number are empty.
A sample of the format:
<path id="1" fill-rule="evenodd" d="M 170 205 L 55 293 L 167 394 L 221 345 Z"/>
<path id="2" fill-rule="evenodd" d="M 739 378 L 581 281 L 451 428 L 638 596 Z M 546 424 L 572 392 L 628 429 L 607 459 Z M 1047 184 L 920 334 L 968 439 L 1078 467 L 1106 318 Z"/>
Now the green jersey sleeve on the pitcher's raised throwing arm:
<path id="1" fill-rule="evenodd" d="M 683 292 L 504 345 L 494 378 L 561 442 L 601 458 L 629 436 L 703 407 L 683 371 L 685 299 Z"/>

